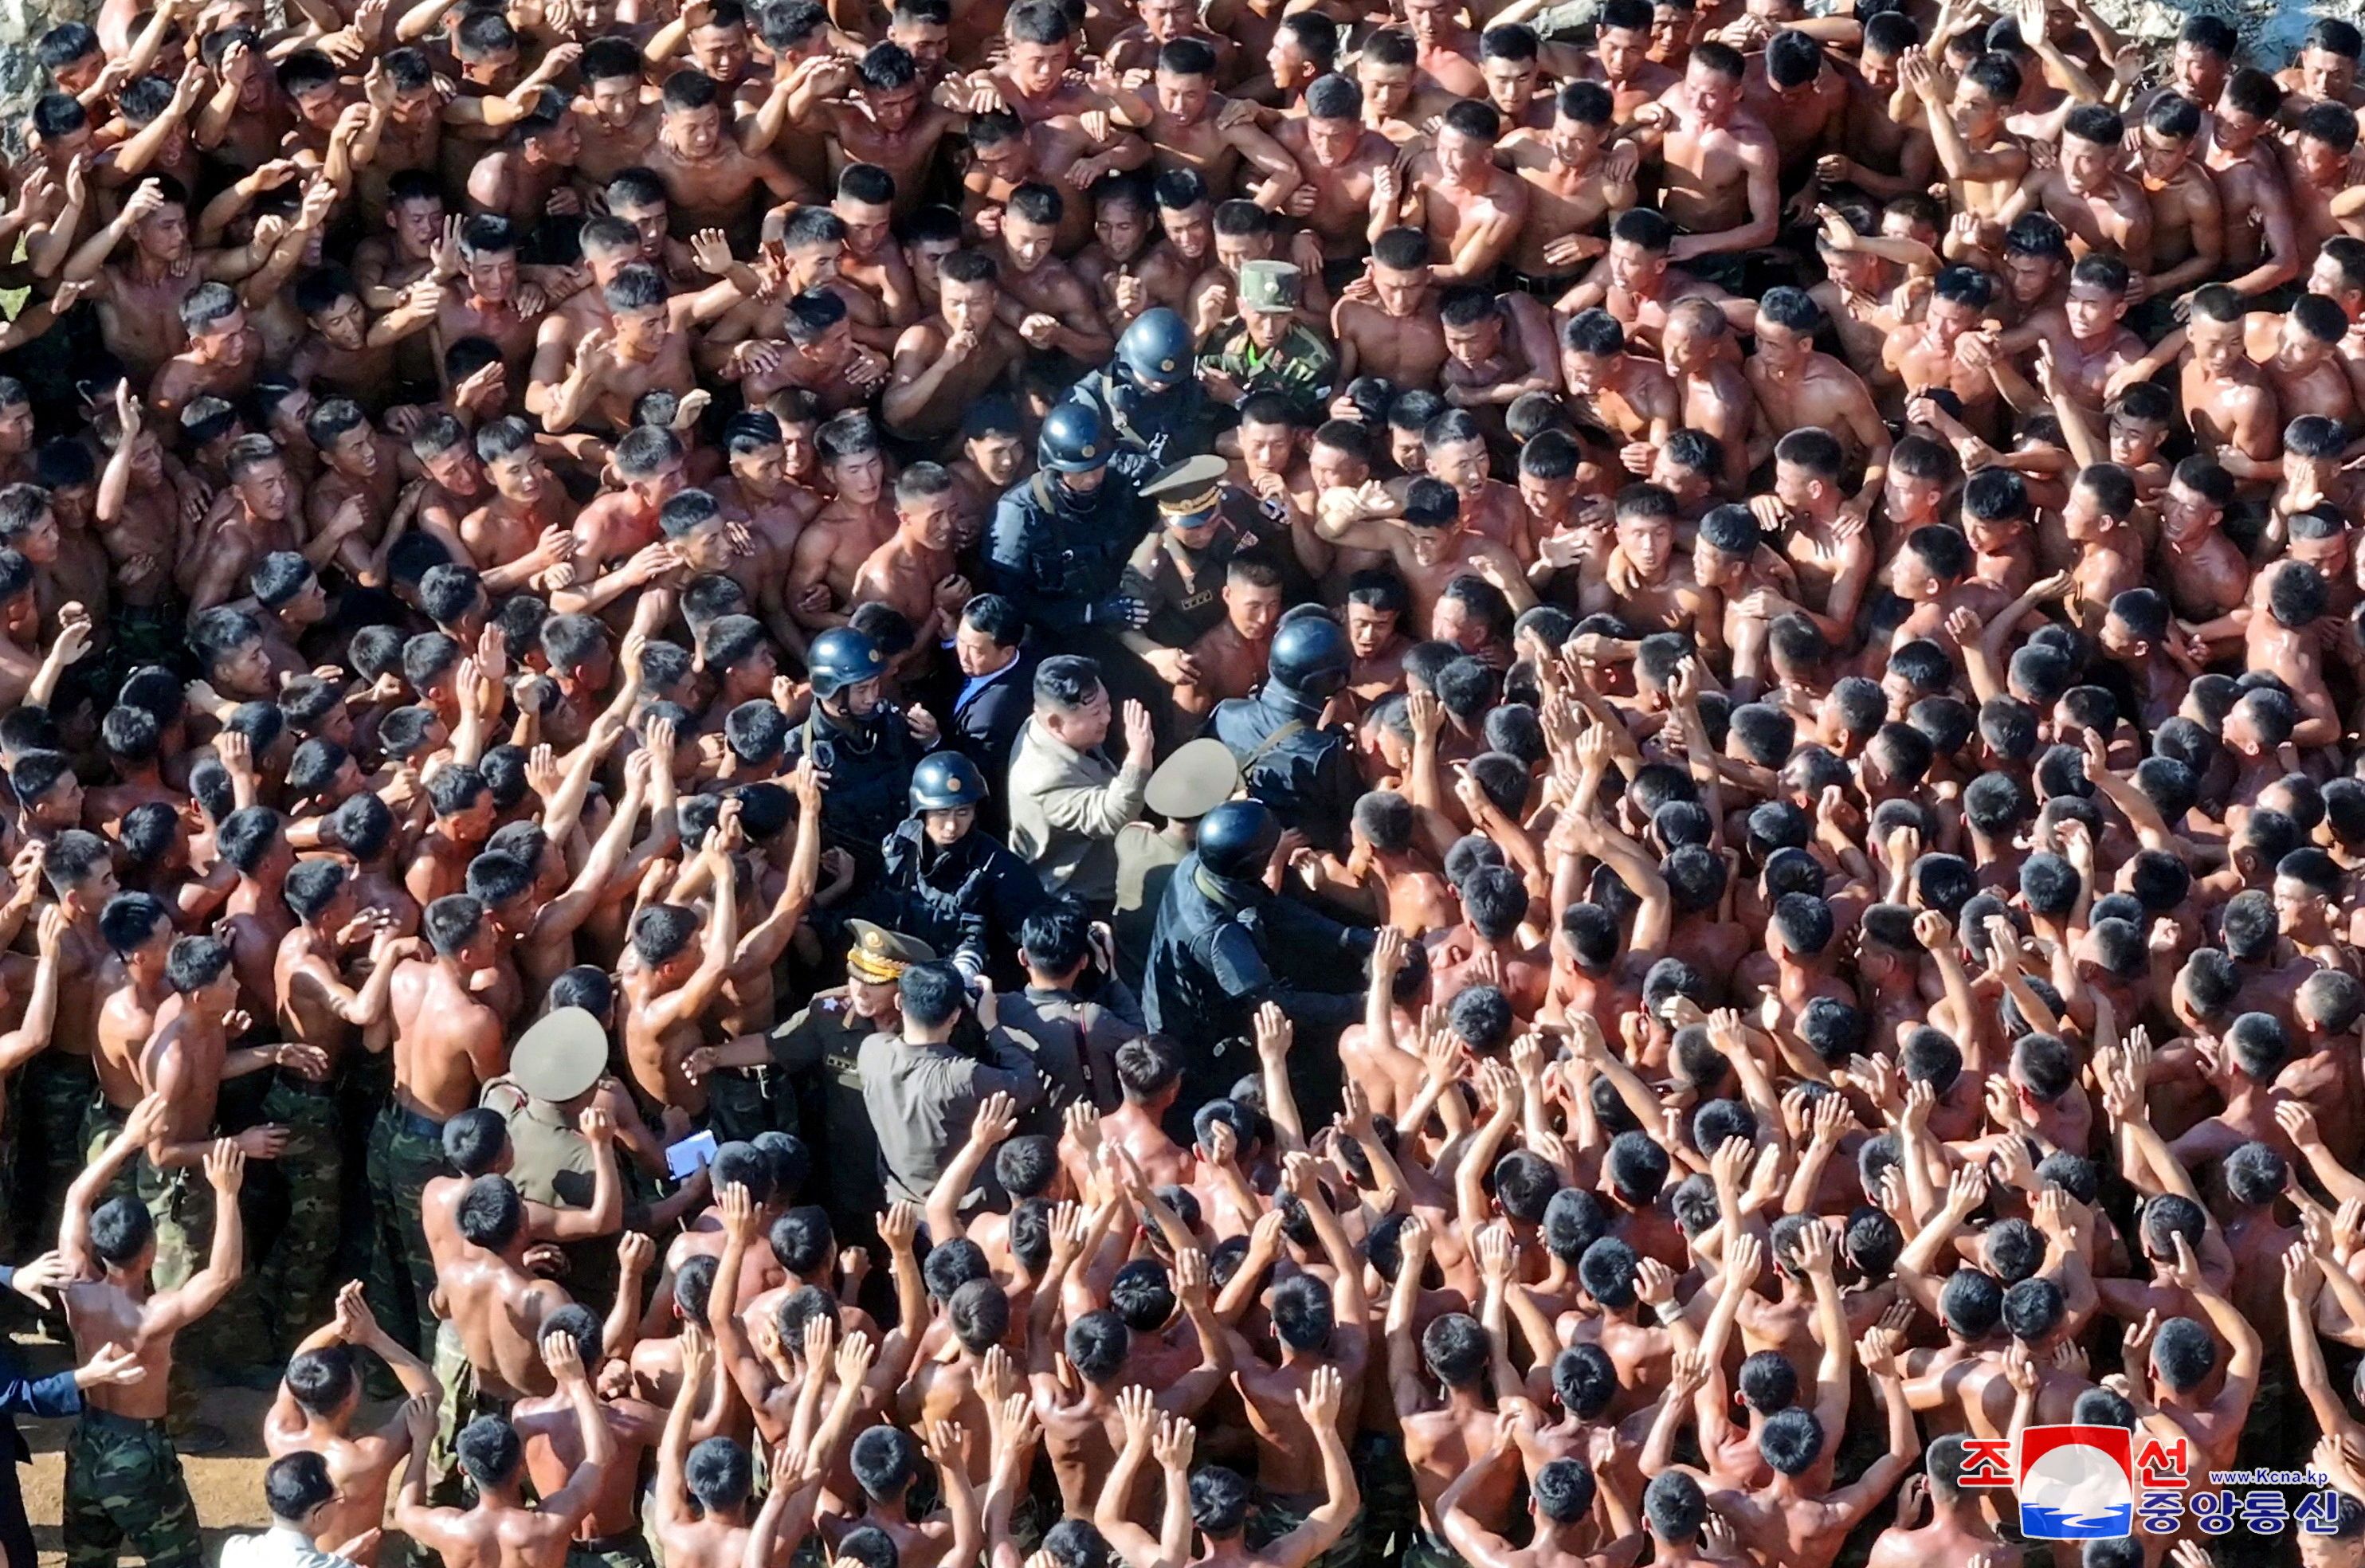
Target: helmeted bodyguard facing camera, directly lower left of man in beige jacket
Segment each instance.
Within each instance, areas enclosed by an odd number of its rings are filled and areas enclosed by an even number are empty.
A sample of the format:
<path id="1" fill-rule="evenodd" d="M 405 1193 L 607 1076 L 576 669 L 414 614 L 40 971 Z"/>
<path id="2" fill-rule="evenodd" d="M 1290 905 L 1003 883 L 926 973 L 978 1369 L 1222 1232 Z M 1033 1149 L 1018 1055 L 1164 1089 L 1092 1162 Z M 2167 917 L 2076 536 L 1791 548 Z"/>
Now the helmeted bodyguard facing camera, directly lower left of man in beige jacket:
<path id="1" fill-rule="evenodd" d="M 1045 901 L 1026 861 L 977 825 L 986 776 L 960 752 L 932 752 L 911 771 L 911 816 L 887 835 L 885 885 L 873 915 L 951 958 L 963 979 L 1026 984 L 1019 922 Z"/>

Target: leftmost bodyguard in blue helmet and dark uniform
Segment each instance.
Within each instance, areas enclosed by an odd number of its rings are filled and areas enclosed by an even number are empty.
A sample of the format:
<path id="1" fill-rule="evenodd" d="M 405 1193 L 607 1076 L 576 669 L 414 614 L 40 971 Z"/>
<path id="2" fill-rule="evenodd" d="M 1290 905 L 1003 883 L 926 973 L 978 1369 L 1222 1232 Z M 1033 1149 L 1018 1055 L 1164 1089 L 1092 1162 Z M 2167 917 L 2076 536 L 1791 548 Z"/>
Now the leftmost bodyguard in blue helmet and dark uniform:
<path id="1" fill-rule="evenodd" d="M 788 766 L 811 757 L 828 773 L 821 837 L 851 854 L 856 873 L 877 875 L 880 844 L 903 821 L 913 764 L 937 743 L 937 719 L 880 700 L 887 657 L 851 627 L 816 636 L 804 662 L 814 712 L 788 733 Z"/>

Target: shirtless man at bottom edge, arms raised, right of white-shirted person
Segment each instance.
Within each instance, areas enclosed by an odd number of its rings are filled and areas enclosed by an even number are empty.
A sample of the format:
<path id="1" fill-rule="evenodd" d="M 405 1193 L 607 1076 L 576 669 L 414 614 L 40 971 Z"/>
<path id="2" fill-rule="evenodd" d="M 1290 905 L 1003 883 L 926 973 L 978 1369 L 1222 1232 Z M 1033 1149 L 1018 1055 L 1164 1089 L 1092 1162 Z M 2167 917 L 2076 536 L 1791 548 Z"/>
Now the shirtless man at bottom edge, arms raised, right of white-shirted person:
<path id="1" fill-rule="evenodd" d="M 575 1407 L 584 1457 L 568 1483 L 534 1507 L 523 1502 L 520 1488 L 525 1445 L 501 1417 L 478 1417 L 456 1443 L 459 1464 L 475 1483 L 475 1507 L 466 1511 L 428 1507 L 428 1438 L 435 1436 L 435 1414 L 426 1400 L 402 1407 L 412 1431 L 412 1459 L 395 1495 L 395 1528 L 454 1568 L 561 1568 L 575 1528 L 591 1516 L 601 1476 L 615 1457 L 615 1438 L 584 1376 L 575 1339 L 546 1336 L 542 1365 Z"/>

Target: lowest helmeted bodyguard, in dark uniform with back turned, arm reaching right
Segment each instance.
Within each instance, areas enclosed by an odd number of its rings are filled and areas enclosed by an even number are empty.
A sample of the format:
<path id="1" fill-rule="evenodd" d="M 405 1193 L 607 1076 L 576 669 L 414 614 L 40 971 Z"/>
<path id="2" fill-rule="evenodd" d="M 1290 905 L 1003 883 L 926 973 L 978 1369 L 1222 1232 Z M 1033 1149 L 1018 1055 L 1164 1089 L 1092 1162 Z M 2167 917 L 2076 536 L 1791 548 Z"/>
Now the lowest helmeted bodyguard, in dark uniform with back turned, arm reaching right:
<path id="1" fill-rule="evenodd" d="M 1277 1003 L 1301 1041 L 1336 1038 L 1362 1017 L 1372 932 L 1270 892 L 1265 866 L 1279 842 L 1282 821 L 1268 804 L 1227 799 L 1199 818 L 1197 844 L 1166 882 L 1142 1010 L 1152 1034 L 1185 1043 L 1175 1097 L 1185 1119 L 1256 1069 L 1253 1055 L 1225 1052 L 1223 1043 L 1251 1038 L 1263 1003 Z M 1291 1064 L 1317 1055 L 1301 1048 Z"/>

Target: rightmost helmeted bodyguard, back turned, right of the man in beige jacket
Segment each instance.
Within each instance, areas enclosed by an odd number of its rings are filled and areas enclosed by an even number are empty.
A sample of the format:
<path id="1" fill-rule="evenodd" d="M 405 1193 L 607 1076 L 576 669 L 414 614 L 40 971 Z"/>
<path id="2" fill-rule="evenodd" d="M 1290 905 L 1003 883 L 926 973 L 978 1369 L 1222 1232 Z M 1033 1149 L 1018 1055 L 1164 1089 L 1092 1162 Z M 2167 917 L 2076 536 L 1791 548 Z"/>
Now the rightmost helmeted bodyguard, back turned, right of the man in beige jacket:
<path id="1" fill-rule="evenodd" d="M 1362 797 L 1353 733 L 1322 726 L 1324 705 L 1353 667 L 1346 629 L 1327 610 L 1291 610 L 1272 631 L 1263 691 L 1218 702 L 1206 726 L 1239 762 L 1249 795 L 1329 854 L 1346 854 Z"/>

